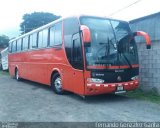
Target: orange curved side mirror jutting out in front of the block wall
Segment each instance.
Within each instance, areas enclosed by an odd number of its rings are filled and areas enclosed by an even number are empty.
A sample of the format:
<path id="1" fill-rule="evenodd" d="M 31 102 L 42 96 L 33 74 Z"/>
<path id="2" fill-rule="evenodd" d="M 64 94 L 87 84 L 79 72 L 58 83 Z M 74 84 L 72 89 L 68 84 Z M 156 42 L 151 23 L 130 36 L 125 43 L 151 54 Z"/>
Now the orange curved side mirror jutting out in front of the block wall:
<path id="1" fill-rule="evenodd" d="M 146 48 L 151 49 L 151 39 L 149 35 L 143 31 L 134 32 L 134 36 L 143 36 L 146 40 Z"/>

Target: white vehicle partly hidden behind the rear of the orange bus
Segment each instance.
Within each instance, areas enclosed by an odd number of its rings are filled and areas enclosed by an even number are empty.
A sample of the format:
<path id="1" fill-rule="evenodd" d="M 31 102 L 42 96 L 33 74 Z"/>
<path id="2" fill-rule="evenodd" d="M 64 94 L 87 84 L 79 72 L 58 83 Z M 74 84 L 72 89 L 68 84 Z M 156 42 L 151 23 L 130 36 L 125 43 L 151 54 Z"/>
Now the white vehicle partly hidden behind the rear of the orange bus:
<path id="1" fill-rule="evenodd" d="M 8 47 L 1 51 L 2 70 L 8 70 Z"/>

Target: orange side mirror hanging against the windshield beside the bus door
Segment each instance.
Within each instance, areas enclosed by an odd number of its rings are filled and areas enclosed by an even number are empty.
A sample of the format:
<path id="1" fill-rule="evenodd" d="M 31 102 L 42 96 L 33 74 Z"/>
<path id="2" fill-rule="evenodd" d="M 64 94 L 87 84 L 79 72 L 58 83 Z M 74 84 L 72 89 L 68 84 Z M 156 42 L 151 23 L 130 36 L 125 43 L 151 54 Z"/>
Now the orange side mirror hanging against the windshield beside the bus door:
<path id="1" fill-rule="evenodd" d="M 91 42 L 91 33 L 87 26 L 81 25 L 81 31 L 83 33 L 82 39 L 84 43 L 90 43 Z"/>

